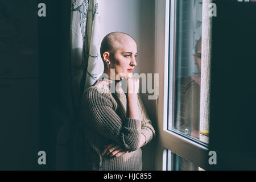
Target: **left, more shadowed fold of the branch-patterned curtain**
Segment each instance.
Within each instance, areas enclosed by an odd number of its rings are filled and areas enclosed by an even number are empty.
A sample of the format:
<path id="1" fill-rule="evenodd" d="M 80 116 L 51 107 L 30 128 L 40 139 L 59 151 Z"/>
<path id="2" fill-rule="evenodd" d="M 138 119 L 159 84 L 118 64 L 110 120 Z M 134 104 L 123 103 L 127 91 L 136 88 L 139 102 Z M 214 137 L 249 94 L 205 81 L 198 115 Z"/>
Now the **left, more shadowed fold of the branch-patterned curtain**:
<path id="1" fill-rule="evenodd" d="M 70 66 L 72 101 L 75 110 L 79 110 L 81 90 L 84 80 L 84 70 L 87 67 L 88 45 L 85 32 L 89 10 L 89 0 L 72 0 L 71 2 L 71 27 L 70 27 Z M 85 44 L 84 44 L 85 43 Z"/>

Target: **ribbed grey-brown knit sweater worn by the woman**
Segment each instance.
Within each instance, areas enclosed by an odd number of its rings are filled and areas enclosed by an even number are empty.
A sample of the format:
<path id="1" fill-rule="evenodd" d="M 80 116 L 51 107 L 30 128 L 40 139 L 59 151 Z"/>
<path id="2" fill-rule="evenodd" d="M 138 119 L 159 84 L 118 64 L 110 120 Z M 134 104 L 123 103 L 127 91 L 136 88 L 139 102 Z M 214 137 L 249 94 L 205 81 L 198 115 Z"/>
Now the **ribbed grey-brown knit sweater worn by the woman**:
<path id="1" fill-rule="evenodd" d="M 141 134 L 146 145 L 155 135 L 141 97 L 138 94 L 139 119 L 126 117 L 126 95 L 122 83 L 110 92 L 114 81 L 104 78 L 86 89 L 82 96 L 81 127 L 85 129 L 87 169 L 93 170 L 141 170 Z M 102 156 L 104 146 L 115 143 L 129 151 L 119 157 Z"/>

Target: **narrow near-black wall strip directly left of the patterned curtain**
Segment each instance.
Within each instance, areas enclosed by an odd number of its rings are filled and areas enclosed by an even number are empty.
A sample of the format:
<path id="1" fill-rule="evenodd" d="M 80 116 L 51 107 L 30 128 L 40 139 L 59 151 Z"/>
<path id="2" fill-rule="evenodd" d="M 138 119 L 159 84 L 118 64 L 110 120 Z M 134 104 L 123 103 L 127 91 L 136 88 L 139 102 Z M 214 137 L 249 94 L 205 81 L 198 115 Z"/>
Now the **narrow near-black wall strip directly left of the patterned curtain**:
<path id="1" fill-rule="evenodd" d="M 40 0 L 45 3 L 46 17 L 38 18 L 39 38 L 39 98 L 40 148 L 46 151 L 47 165 L 42 169 L 55 169 L 56 139 L 64 121 L 57 111 L 68 113 L 65 96 L 69 85 L 69 24 L 70 0 Z M 72 107 L 72 105 L 70 105 Z"/>

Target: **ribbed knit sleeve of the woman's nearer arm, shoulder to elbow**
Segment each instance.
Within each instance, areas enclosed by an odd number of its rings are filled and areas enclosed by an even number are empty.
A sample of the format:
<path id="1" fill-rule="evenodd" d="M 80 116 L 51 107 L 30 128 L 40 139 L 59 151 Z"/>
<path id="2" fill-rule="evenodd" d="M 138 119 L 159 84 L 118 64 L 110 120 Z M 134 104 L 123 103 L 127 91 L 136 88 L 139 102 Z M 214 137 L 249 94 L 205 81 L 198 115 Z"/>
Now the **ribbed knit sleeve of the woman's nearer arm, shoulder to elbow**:
<path id="1" fill-rule="evenodd" d="M 100 93 L 91 87 L 82 96 L 81 114 L 83 122 L 102 136 L 120 144 L 125 150 L 135 151 L 141 139 L 141 120 L 121 119 L 114 111 L 109 94 Z"/>

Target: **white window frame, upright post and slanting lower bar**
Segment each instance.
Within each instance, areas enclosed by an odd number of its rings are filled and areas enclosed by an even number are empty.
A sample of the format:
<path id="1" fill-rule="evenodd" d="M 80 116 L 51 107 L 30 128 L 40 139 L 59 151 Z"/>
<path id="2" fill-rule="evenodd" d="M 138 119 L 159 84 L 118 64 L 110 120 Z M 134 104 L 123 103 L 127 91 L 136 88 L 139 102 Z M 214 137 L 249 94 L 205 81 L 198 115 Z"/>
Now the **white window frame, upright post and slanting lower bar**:
<path id="1" fill-rule="evenodd" d="M 156 148 L 155 169 L 158 171 L 167 169 L 167 152 L 165 149 L 174 152 L 200 168 L 208 169 L 207 146 L 167 130 L 168 89 L 172 89 L 168 88 L 169 67 L 172 67 L 174 61 L 172 58 L 169 60 L 169 33 L 171 36 L 174 35 L 174 27 L 170 27 L 169 17 L 170 3 L 173 4 L 174 2 L 175 0 L 155 1 L 155 73 L 159 73 L 159 98 L 158 105 L 156 105 L 158 146 Z M 170 45 L 172 46 L 174 40 L 171 40 L 171 42 Z M 168 160 L 168 162 L 171 161 Z"/>

